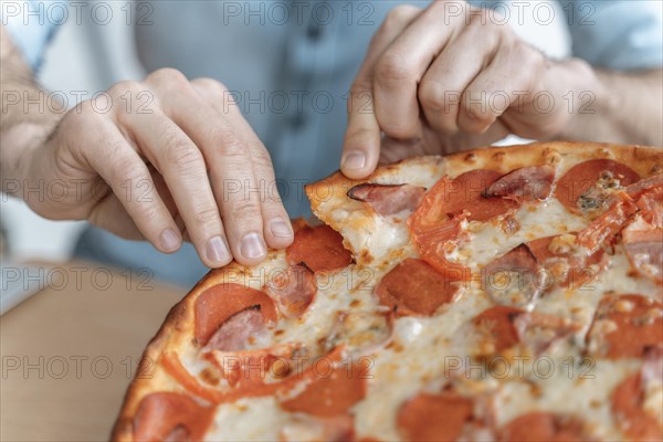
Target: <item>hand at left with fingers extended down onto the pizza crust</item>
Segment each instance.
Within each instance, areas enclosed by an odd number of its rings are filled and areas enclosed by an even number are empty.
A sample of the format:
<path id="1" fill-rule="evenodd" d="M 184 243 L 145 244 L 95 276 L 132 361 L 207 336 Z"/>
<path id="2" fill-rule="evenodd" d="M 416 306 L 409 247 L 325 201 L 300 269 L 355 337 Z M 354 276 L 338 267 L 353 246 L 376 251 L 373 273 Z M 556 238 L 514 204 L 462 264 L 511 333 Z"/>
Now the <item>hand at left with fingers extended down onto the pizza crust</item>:
<path id="1" fill-rule="evenodd" d="M 190 240 L 210 267 L 233 255 L 256 264 L 266 245 L 291 244 L 270 155 L 223 85 L 167 69 L 106 96 L 108 112 L 83 102 L 27 149 L 27 182 L 59 182 L 66 196 L 28 199 L 35 212 L 88 220 L 165 253 Z"/>

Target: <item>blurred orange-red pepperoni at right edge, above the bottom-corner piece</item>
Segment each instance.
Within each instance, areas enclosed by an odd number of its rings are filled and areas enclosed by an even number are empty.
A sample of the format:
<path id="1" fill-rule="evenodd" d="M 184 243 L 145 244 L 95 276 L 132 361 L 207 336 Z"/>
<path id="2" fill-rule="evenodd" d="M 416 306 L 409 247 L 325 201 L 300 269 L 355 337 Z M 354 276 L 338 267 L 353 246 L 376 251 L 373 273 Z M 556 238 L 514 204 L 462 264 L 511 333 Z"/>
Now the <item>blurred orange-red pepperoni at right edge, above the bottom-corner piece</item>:
<path id="1" fill-rule="evenodd" d="M 587 334 L 589 351 L 618 359 L 640 358 L 663 345 L 663 305 L 641 295 L 604 297 Z"/>

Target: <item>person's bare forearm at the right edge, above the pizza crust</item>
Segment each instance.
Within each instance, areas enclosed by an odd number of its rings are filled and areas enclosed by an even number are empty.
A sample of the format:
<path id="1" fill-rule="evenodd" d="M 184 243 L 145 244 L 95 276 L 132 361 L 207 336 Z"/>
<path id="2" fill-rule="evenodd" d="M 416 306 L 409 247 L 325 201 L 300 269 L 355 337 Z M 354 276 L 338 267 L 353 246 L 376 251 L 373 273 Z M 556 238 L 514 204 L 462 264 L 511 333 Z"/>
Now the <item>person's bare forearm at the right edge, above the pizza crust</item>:
<path id="1" fill-rule="evenodd" d="M 663 146 L 663 70 L 594 70 L 590 81 L 576 91 L 583 102 L 558 138 Z"/>

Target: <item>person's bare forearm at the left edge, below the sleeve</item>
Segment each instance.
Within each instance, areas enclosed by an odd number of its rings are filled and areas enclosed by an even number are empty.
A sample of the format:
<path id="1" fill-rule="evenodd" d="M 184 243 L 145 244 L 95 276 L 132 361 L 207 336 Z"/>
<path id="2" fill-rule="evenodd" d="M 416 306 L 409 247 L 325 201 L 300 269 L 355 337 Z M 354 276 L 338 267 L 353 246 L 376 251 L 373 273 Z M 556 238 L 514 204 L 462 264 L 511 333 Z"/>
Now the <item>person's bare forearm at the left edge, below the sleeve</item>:
<path id="1" fill-rule="evenodd" d="M 30 150 L 48 137 L 60 115 L 50 109 L 46 95 L 2 25 L 0 33 L 0 181 L 7 190 L 10 180 L 24 178 Z"/>

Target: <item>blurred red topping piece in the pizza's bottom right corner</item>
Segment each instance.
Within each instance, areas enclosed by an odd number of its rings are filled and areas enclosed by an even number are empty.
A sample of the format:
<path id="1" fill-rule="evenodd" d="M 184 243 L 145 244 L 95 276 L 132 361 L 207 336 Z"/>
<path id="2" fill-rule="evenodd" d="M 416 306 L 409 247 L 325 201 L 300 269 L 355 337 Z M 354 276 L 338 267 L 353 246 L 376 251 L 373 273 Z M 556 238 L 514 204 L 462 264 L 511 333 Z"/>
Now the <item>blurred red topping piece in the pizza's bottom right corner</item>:
<path id="1" fill-rule="evenodd" d="M 617 425 L 631 440 L 657 441 L 663 434 L 661 401 L 654 393 L 654 410 L 648 410 L 648 393 L 663 380 L 663 348 L 646 351 L 641 370 L 624 379 L 612 392 L 611 411 Z M 652 389 L 653 387 L 653 389 Z"/>

